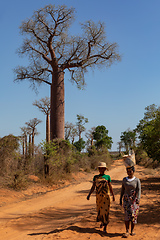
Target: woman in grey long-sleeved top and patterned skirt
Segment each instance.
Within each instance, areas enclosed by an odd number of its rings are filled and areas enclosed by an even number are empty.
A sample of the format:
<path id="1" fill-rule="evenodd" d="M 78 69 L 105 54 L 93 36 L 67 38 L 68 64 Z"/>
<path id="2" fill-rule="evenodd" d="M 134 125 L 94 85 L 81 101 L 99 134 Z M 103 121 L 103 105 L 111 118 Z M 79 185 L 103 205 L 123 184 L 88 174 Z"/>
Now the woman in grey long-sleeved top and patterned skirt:
<path id="1" fill-rule="evenodd" d="M 126 159 L 129 162 L 129 159 Z M 130 164 L 132 165 L 132 164 Z M 129 227 L 131 223 L 131 235 L 135 235 L 134 226 L 137 223 L 137 215 L 139 212 L 139 202 L 141 197 L 141 183 L 138 178 L 134 176 L 135 167 L 127 166 L 127 177 L 123 178 L 122 189 L 120 195 L 120 205 L 123 207 L 125 213 L 125 227 L 126 233 L 123 234 L 124 238 L 129 236 Z"/>

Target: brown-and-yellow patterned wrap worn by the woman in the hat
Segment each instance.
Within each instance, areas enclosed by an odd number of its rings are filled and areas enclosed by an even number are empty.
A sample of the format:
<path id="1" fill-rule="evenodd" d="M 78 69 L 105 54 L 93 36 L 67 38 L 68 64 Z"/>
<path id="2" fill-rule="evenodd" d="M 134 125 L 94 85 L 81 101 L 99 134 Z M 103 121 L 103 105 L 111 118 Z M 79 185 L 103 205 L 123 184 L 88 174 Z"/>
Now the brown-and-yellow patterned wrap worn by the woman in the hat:
<path id="1" fill-rule="evenodd" d="M 96 205 L 97 205 L 97 222 L 108 225 L 109 223 L 109 209 L 110 209 L 110 195 L 108 182 L 106 180 L 96 180 Z"/>

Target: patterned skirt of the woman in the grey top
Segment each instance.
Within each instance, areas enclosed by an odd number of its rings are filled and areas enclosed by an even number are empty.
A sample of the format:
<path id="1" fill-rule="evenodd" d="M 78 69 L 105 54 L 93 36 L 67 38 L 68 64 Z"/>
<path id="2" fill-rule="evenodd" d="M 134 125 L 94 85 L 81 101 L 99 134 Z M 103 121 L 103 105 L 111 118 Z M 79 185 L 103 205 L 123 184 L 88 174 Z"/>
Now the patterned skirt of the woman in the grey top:
<path id="1" fill-rule="evenodd" d="M 137 203 L 137 198 L 135 193 L 132 195 L 125 194 L 123 197 L 123 207 L 125 213 L 125 221 L 132 221 L 137 223 L 137 216 L 139 213 L 139 204 Z"/>

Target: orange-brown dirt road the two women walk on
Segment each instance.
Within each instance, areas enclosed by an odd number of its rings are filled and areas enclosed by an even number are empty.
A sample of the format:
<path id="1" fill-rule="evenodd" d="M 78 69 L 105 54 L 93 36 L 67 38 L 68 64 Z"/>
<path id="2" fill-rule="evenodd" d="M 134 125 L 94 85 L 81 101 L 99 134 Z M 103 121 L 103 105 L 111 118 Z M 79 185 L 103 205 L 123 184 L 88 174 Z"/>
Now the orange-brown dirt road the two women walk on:
<path id="1" fill-rule="evenodd" d="M 142 181 L 141 211 L 136 236 L 130 239 L 160 239 L 160 179 L 156 171 L 147 172 L 136 166 L 136 176 Z M 125 230 L 119 194 L 125 167 L 115 161 L 111 176 L 116 201 L 112 202 L 108 234 L 104 235 L 95 222 L 95 195 L 86 200 L 95 173 L 86 180 L 37 198 L 10 203 L 0 208 L 0 239 L 121 239 Z"/>

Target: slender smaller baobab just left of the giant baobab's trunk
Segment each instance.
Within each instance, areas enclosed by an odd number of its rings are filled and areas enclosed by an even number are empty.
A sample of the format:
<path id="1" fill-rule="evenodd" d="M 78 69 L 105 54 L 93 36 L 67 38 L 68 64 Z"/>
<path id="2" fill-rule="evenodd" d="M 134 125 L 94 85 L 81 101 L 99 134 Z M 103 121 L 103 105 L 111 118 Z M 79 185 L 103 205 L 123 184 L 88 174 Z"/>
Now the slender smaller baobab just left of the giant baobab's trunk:
<path id="1" fill-rule="evenodd" d="M 50 99 L 48 97 L 41 98 L 39 101 L 33 103 L 41 112 L 46 115 L 46 142 L 50 141 Z"/>

